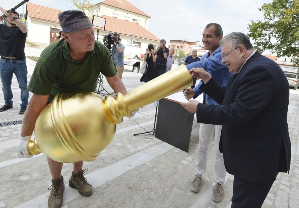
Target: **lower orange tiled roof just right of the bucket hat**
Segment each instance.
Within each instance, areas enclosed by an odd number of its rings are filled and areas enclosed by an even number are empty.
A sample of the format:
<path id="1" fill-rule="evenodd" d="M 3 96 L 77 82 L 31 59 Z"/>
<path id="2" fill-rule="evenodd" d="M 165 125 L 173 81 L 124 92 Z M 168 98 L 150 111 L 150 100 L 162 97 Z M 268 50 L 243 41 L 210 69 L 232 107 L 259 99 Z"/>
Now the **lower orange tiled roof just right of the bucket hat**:
<path id="1" fill-rule="evenodd" d="M 147 31 L 145 28 L 143 28 L 141 25 L 137 23 L 120 20 L 114 17 L 108 17 L 106 15 L 103 15 L 101 17 L 106 18 L 105 31 L 116 32 L 119 33 L 120 35 L 123 34 L 129 36 L 133 34 L 135 38 L 139 37 L 139 38 L 155 40 L 155 41 L 160 40 L 159 38 L 154 36 L 152 33 Z M 94 27 L 94 28 L 99 28 L 99 27 Z M 100 28 L 100 29 L 103 30 L 104 28 Z"/>

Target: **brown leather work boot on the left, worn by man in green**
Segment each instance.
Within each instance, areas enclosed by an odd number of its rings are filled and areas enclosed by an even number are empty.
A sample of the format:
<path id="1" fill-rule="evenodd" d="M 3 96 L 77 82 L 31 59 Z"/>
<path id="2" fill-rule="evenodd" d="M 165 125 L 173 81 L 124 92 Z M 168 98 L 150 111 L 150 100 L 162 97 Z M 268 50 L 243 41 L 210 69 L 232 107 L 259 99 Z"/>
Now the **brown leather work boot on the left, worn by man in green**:
<path id="1" fill-rule="evenodd" d="M 63 177 L 60 179 L 53 180 L 52 186 L 48 188 L 51 190 L 50 196 L 48 198 L 48 207 L 49 208 L 59 208 L 63 202 L 63 191 L 65 190 L 65 184 L 63 183 Z"/>

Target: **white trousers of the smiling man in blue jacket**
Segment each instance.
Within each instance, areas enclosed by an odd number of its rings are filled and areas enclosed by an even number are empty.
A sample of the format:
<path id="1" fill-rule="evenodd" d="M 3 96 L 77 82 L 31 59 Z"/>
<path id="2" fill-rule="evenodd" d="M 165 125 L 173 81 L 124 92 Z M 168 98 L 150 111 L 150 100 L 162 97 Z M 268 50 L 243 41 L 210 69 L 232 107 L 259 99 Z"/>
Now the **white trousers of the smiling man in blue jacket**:
<path id="1" fill-rule="evenodd" d="M 226 169 L 223 162 L 223 154 L 219 151 L 219 141 L 221 134 L 221 125 L 212 125 L 201 123 L 199 127 L 199 142 L 196 149 L 196 162 L 195 162 L 195 174 L 202 177 L 202 174 L 206 171 L 208 147 L 211 143 L 213 132 L 215 129 L 215 151 L 216 151 L 216 162 L 215 162 L 215 182 L 224 184 Z"/>

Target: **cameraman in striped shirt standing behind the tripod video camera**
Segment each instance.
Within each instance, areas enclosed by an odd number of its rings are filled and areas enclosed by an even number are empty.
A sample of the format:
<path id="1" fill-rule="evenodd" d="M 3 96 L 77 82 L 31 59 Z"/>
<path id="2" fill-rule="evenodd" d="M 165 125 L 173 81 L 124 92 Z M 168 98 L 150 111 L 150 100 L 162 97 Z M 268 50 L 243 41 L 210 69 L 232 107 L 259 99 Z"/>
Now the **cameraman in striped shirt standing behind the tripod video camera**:
<path id="1" fill-rule="evenodd" d="M 116 75 L 121 79 L 124 71 L 124 45 L 119 42 L 120 35 L 117 33 L 113 34 L 115 37 L 114 44 L 112 46 L 111 54 L 113 63 L 116 68 Z"/>

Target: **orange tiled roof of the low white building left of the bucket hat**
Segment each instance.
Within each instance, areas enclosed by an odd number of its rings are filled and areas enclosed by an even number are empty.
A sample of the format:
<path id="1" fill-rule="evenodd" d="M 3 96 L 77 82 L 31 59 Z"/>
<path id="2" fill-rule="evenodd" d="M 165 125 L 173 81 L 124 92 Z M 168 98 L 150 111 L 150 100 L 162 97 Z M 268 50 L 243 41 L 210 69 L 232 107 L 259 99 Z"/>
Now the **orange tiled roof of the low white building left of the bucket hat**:
<path id="1" fill-rule="evenodd" d="M 27 2 L 26 5 L 26 19 L 29 14 L 29 16 L 34 19 L 59 23 L 58 14 L 61 12 L 63 11 L 29 2 Z"/>

